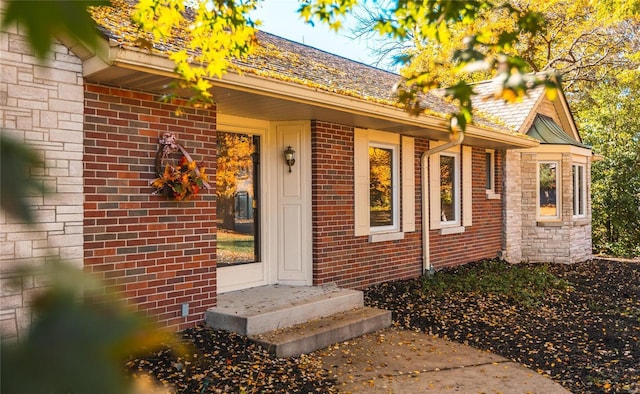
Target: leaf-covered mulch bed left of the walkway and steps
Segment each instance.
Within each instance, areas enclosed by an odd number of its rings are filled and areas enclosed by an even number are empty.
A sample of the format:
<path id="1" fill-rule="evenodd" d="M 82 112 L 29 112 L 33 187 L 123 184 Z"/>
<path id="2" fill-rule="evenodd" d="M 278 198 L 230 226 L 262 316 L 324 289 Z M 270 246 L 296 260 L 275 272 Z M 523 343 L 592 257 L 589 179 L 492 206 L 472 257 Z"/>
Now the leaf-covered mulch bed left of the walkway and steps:
<path id="1" fill-rule="evenodd" d="M 322 363 L 302 355 L 276 358 L 247 337 L 199 326 L 183 332 L 187 348 L 133 359 L 133 374 L 152 375 L 176 393 L 337 393 Z"/>

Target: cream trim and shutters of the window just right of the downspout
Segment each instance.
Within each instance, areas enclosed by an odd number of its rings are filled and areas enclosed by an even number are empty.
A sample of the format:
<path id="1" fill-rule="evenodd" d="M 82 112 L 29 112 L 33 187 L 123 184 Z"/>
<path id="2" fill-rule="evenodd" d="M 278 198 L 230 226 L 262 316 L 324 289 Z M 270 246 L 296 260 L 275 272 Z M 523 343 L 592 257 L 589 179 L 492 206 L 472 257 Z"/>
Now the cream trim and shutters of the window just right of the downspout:
<path id="1" fill-rule="evenodd" d="M 431 141 L 429 148 L 433 149 L 444 143 L 442 141 Z M 454 187 L 456 187 L 458 198 L 455 202 L 455 221 L 441 221 L 440 155 L 453 155 L 456 157 L 457 179 Z M 429 156 L 429 223 L 431 230 L 440 230 L 441 235 L 458 234 L 464 232 L 466 227 L 473 224 L 471 167 L 472 148 L 470 146 L 454 146 L 444 152 Z"/>

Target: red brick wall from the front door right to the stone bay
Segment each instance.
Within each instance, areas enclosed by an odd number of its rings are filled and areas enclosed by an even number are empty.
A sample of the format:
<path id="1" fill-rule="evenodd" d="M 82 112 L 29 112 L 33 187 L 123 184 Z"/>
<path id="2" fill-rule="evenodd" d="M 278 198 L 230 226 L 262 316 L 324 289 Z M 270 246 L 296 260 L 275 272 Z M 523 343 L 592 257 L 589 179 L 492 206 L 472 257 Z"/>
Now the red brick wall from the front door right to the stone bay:
<path id="1" fill-rule="evenodd" d="M 312 122 L 314 283 L 364 288 L 422 273 L 420 157 L 428 149 L 416 140 L 416 232 L 398 241 L 370 243 L 354 237 L 353 129 Z M 502 193 L 504 152 L 496 152 L 496 193 Z M 485 150 L 473 149 L 473 226 L 463 234 L 430 233 L 436 269 L 496 257 L 502 249 L 502 203 L 486 196 Z"/>

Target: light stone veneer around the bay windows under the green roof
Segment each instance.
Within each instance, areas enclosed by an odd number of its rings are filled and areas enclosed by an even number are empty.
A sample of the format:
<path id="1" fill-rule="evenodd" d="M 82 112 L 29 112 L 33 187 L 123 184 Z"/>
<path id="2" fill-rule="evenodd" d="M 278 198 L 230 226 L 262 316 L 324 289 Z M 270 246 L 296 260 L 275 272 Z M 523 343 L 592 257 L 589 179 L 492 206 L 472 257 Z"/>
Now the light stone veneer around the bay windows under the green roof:
<path id="1" fill-rule="evenodd" d="M 587 207 L 584 218 L 573 217 L 573 155 L 562 153 L 562 218 L 559 222 L 536 219 L 538 154 L 512 151 L 505 170 L 505 258 L 511 263 L 576 263 L 592 257 L 591 166 L 586 165 Z M 520 190 L 521 192 L 518 192 Z"/>

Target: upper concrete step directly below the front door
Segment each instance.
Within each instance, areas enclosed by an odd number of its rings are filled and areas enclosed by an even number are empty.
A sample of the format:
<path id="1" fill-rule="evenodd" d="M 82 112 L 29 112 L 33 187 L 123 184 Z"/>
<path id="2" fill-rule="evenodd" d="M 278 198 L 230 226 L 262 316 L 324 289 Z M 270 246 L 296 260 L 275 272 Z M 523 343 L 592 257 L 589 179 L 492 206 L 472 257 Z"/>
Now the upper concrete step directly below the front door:
<path id="1" fill-rule="evenodd" d="M 218 295 L 205 312 L 209 327 L 241 335 L 291 327 L 364 305 L 361 291 L 337 286 L 263 286 Z"/>

